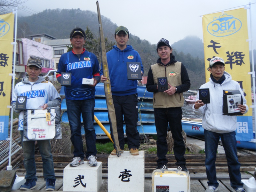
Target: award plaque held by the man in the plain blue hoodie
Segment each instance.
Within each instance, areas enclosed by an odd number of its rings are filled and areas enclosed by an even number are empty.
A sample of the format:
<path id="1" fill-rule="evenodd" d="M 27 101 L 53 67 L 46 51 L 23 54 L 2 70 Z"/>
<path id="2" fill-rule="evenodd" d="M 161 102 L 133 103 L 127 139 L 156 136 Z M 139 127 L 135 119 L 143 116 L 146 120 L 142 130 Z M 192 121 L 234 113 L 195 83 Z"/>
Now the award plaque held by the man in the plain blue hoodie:
<path id="1" fill-rule="evenodd" d="M 140 62 L 127 62 L 128 80 L 141 80 Z"/>

